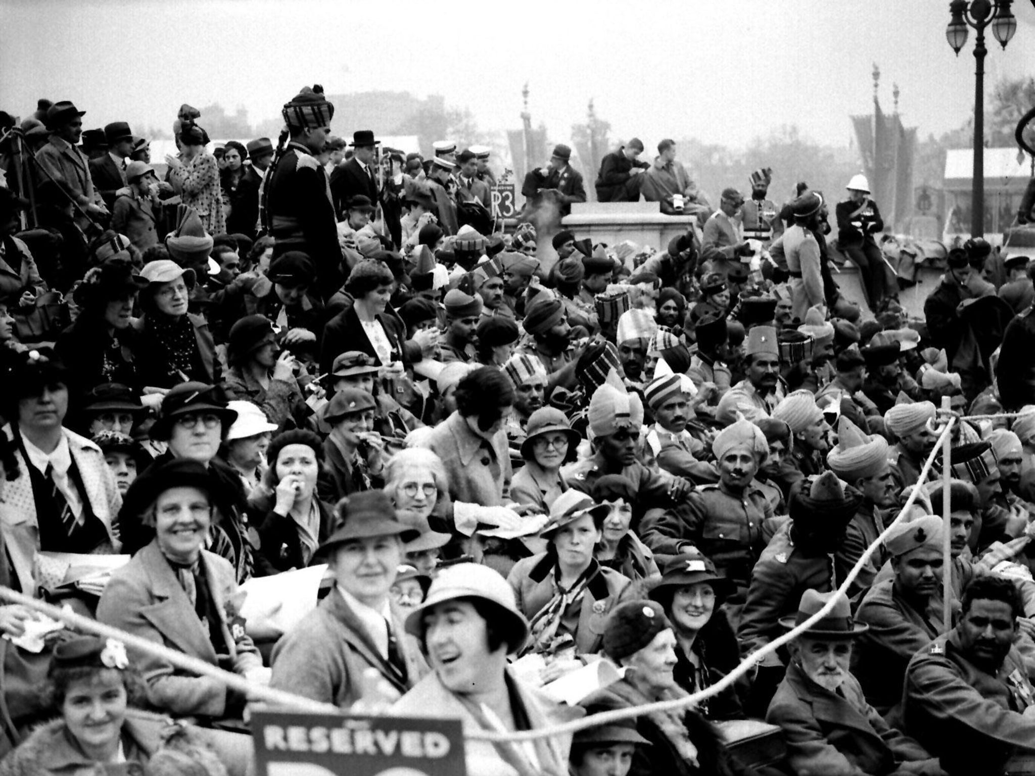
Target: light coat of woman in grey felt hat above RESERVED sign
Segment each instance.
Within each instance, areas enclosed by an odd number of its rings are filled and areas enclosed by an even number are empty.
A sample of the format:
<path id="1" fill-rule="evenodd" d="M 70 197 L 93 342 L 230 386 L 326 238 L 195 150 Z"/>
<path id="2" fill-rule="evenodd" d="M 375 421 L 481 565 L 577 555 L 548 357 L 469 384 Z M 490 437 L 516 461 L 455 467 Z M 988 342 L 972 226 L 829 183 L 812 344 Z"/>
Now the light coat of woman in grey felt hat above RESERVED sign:
<path id="1" fill-rule="evenodd" d="M 424 676 L 427 664 L 394 604 L 391 615 L 392 632 L 406 662 L 405 682 L 381 657 L 366 628 L 335 587 L 273 648 L 270 687 L 348 709 L 362 696 L 363 671 L 374 667 L 404 694 Z"/>

